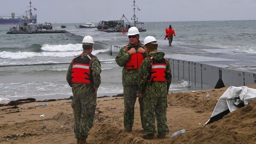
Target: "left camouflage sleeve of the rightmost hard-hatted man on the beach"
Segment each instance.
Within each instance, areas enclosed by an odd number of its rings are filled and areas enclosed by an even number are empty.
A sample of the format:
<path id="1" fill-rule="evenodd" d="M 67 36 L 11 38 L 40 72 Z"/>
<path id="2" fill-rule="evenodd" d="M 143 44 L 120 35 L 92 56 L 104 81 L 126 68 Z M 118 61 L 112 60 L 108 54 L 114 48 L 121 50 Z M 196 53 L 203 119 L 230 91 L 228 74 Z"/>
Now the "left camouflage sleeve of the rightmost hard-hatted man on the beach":
<path id="1" fill-rule="evenodd" d="M 148 77 L 150 76 L 150 71 L 151 71 L 151 60 L 147 57 L 143 60 L 140 68 L 139 68 L 139 88 L 138 92 L 143 93 L 146 82 L 148 80 Z"/>

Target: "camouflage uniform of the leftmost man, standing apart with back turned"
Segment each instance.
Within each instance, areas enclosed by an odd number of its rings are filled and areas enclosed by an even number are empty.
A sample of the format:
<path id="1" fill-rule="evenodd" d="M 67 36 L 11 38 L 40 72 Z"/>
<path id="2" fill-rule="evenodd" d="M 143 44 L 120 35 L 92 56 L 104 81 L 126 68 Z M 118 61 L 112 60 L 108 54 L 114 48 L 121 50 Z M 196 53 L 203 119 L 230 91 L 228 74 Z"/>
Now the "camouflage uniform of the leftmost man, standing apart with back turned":
<path id="1" fill-rule="evenodd" d="M 84 51 L 82 55 L 90 54 Z M 93 77 L 93 85 L 99 88 L 101 79 L 101 65 L 96 56 L 91 59 L 90 71 Z M 95 88 L 93 85 L 71 83 L 72 63 L 67 71 L 67 82 L 72 87 L 73 99 L 72 108 L 74 111 L 75 124 L 74 132 L 77 139 L 86 139 L 90 128 L 93 126 L 94 113 L 96 108 Z"/>

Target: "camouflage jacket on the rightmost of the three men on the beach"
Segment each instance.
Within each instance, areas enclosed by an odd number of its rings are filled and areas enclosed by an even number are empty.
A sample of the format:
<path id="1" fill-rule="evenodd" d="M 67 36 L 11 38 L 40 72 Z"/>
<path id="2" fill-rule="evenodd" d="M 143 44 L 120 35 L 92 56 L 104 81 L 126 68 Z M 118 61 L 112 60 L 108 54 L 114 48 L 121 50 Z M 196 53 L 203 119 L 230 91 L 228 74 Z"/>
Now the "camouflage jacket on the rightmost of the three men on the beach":
<path id="1" fill-rule="evenodd" d="M 155 60 L 161 60 L 165 54 L 155 50 L 150 52 L 148 55 L 153 56 L 153 59 Z M 152 61 L 147 57 L 143 60 L 142 65 L 139 68 L 140 79 L 138 92 L 143 93 L 143 97 L 145 98 L 166 97 L 172 80 L 171 66 L 169 61 L 166 59 L 166 77 L 168 79 L 167 82 L 147 82 L 148 78 L 150 77 L 151 65 Z"/>

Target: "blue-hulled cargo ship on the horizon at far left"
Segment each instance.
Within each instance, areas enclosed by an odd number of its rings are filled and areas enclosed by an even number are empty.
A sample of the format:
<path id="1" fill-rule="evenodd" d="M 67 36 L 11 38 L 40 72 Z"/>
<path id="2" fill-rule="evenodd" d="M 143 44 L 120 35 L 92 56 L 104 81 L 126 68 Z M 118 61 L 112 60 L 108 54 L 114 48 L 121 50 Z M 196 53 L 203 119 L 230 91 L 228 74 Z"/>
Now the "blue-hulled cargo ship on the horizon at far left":
<path id="1" fill-rule="evenodd" d="M 22 17 L 15 17 L 15 13 L 12 13 L 11 16 L 0 16 L 0 25 L 17 25 L 20 21 L 27 20 L 29 23 L 37 23 L 37 15 L 32 14 L 31 1 L 29 2 L 29 11 L 25 11 L 25 15 Z M 34 8 L 34 11 L 37 10 Z M 7 17 L 7 18 L 4 18 Z"/>

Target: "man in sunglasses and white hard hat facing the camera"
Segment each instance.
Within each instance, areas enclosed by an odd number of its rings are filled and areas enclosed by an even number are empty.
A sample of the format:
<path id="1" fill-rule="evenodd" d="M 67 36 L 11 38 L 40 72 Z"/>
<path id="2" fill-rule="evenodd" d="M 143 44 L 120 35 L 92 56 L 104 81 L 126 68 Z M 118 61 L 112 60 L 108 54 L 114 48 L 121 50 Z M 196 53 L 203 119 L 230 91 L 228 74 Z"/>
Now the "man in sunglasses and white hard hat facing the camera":
<path id="1" fill-rule="evenodd" d="M 126 132 L 131 132 L 134 124 L 134 105 L 138 90 L 138 68 L 147 56 L 147 52 L 140 42 L 139 30 L 131 27 L 128 30 L 129 43 L 121 48 L 116 56 L 116 63 L 124 67 L 122 70 L 122 85 L 124 88 L 124 127 Z M 139 98 L 140 119 L 143 125 L 143 99 Z"/>

